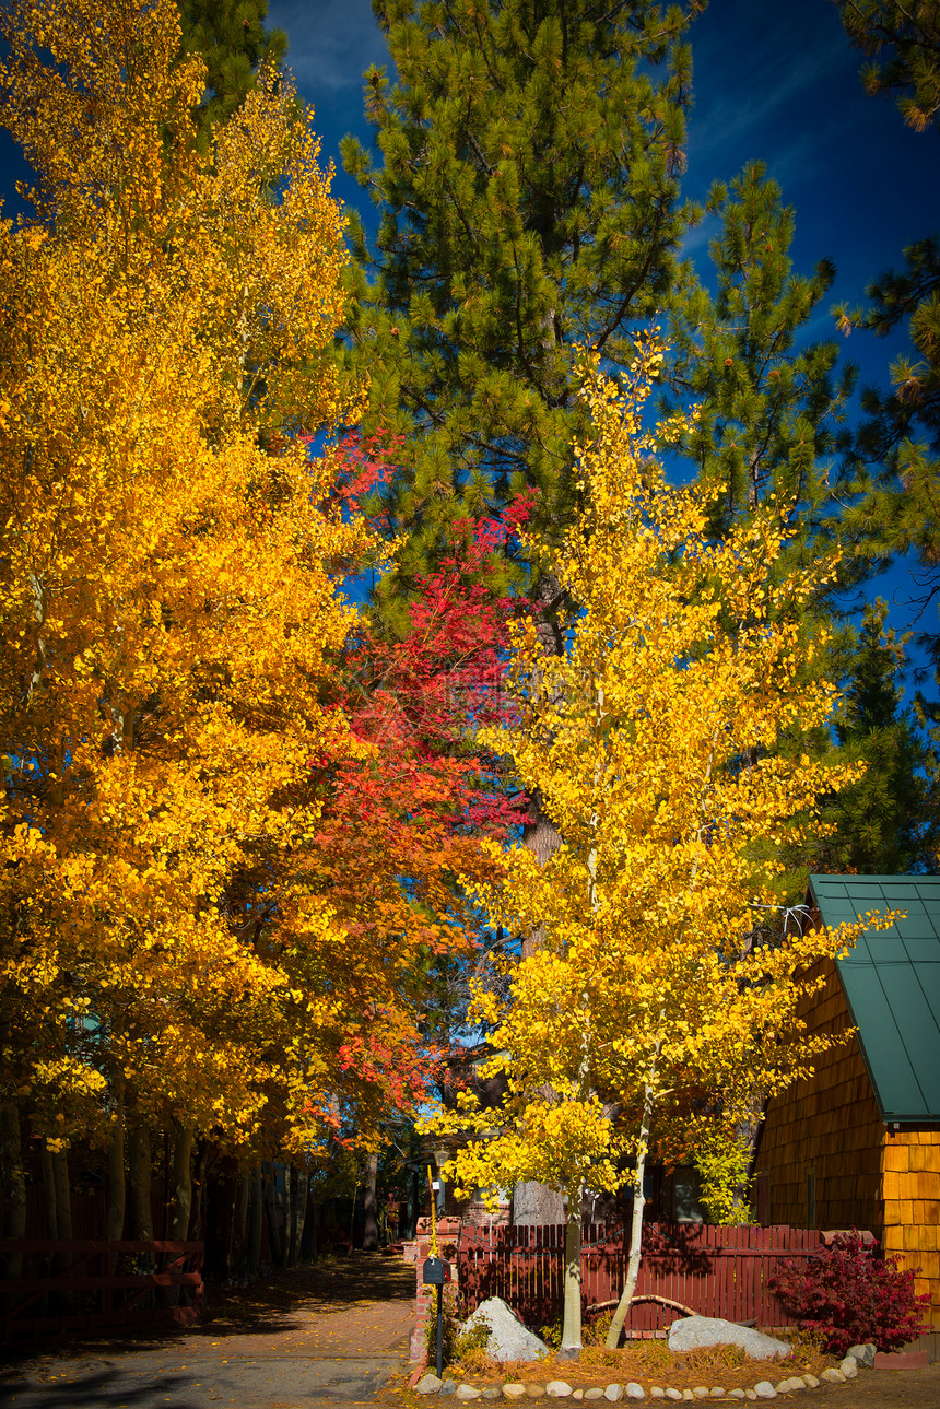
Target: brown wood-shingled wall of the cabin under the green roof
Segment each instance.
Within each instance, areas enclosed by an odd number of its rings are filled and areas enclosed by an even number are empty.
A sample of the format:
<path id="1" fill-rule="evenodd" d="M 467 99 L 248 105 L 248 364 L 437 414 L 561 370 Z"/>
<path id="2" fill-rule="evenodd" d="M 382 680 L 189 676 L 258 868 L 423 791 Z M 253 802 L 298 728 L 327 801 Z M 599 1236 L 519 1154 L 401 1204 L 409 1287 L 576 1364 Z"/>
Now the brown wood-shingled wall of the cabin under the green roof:
<path id="1" fill-rule="evenodd" d="M 851 1027 L 836 965 L 809 1002 L 808 1031 Z M 919 1267 L 940 1330 L 940 1129 L 889 1130 L 853 1036 L 815 1061 L 815 1075 L 768 1102 L 755 1161 L 767 1223 L 870 1229 L 902 1267 Z M 815 1200 L 813 1200 L 815 1193 Z M 813 1206 L 815 1202 L 815 1206 Z"/>

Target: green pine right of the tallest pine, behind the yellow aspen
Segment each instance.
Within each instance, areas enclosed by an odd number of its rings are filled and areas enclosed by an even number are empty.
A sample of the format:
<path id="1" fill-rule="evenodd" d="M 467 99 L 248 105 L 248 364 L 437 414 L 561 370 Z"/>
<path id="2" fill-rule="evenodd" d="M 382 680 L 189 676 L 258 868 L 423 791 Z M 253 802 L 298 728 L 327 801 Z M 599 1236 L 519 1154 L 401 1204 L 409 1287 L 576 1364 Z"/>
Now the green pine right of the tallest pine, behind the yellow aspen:
<path id="1" fill-rule="evenodd" d="M 722 220 L 710 244 L 715 293 L 686 273 L 671 303 L 674 400 L 700 409 L 681 449 L 702 485 L 722 486 L 715 534 L 775 496 L 793 552 L 819 561 L 820 535 L 833 531 L 830 466 L 855 383 L 834 340 L 805 341 L 834 269 L 820 261 L 810 278 L 793 273 L 793 210 L 761 162 L 730 190 L 716 185 L 709 209 Z"/>

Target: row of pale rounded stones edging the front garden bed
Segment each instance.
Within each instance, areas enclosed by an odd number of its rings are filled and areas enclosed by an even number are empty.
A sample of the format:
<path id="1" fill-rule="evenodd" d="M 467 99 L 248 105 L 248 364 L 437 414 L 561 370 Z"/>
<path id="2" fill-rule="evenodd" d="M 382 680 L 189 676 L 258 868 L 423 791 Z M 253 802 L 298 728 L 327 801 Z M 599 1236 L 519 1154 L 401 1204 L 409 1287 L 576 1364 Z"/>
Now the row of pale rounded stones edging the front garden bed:
<path id="1" fill-rule="evenodd" d="M 428 1371 L 414 1385 L 414 1391 L 419 1395 L 457 1394 L 458 1399 L 466 1402 L 472 1399 L 540 1399 L 543 1395 L 548 1399 L 606 1399 L 609 1403 L 617 1403 L 620 1399 L 645 1398 L 667 1399 L 671 1402 L 685 1401 L 692 1403 L 700 1399 L 777 1399 L 778 1395 L 789 1395 L 799 1389 L 819 1389 L 823 1381 L 833 1386 L 846 1385 L 850 1379 L 855 1378 L 860 1365 L 871 1364 L 870 1353 L 874 1358 L 874 1347 L 871 1346 L 853 1346 L 846 1358 L 840 1361 L 839 1368 L 831 1365 L 829 1370 L 823 1370 L 819 1379 L 816 1375 L 809 1374 L 789 1375 L 786 1379 L 781 1379 L 775 1385 L 772 1385 L 769 1379 L 761 1379 L 753 1389 L 726 1391 L 723 1385 L 696 1385 L 695 1389 L 674 1389 L 671 1385 L 653 1385 L 650 1388 L 650 1395 L 647 1396 L 643 1385 L 638 1385 L 636 1381 L 630 1381 L 627 1385 L 613 1381 L 606 1386 L 595 1385 L 590 1389 L 572 1389 L 565 1379 L 550 1379 L 545 1385 L 524 1385 L 521 1381 L 510 1379 L 503 1385 L 486 1385 L 482 1389 L 478 1385 L 465 1384 L 459 1384 L 454 1388 L 452 1379 L 438 1379 L 437 1375 Z"/>

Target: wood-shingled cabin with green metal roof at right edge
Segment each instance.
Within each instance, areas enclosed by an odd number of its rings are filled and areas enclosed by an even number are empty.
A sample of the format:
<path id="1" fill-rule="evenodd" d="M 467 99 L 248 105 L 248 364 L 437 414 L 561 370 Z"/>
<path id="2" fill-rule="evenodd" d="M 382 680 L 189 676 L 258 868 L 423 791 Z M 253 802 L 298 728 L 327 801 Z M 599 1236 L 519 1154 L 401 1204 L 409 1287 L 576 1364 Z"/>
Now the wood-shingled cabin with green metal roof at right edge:
<path id="1" fill-rule="evenodd" d="M 896 912 L 808 999 L 810 1033 L 855 1029 L 812 1078 L 772 1098 L 754 1161 L 758 1222 L 870 1229 L 919 1267 L 940 1354 L 940 876 L 813 875 L 805 923 Z"/>

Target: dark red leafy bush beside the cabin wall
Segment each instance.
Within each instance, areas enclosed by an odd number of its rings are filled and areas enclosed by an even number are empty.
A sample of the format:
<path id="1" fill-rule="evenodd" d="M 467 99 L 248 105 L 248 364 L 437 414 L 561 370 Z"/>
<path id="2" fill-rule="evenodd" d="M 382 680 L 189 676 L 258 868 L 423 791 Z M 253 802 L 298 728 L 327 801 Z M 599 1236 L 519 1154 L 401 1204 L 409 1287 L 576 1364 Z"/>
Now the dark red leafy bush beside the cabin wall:
<path id="1" fill-rule="evenodd" d="M 877 1257 L 853 1229 L 817 1255 L 785 1262 L 769 1288 L 802 1332 L 844 1355 L 850 1346 L 868 1341 L 878 1350 L 898 1350 L 930 1330 L 922 1323 L 930 1298 L 915 1292 L 915 1277 L 901 1271 L 896 1257 Z"/>

